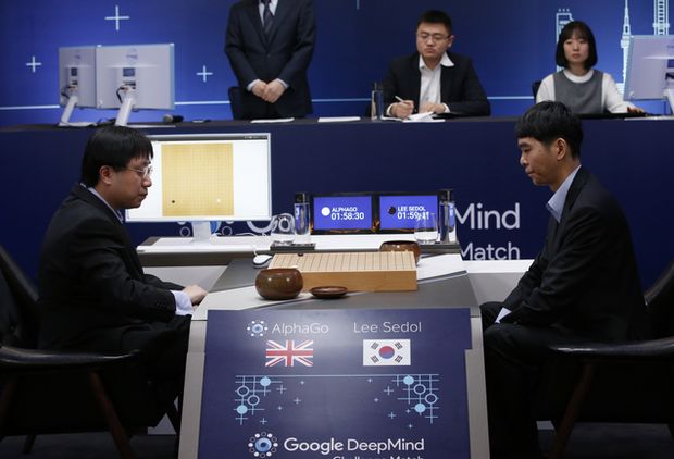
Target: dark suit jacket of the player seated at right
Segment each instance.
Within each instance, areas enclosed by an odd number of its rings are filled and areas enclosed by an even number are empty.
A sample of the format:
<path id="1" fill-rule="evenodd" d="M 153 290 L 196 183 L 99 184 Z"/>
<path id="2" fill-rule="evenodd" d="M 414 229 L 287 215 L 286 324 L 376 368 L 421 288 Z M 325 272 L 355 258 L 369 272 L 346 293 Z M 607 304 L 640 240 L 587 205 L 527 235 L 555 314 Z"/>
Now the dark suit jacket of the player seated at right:
<path id="1" fill-rule="evenodd" d="M 623 211 L 585 168 L 577 172 L 558 225 L 508 296 L 502 322 L 554 326 L 598 339 L 637 337 L 646 308 Z"/>

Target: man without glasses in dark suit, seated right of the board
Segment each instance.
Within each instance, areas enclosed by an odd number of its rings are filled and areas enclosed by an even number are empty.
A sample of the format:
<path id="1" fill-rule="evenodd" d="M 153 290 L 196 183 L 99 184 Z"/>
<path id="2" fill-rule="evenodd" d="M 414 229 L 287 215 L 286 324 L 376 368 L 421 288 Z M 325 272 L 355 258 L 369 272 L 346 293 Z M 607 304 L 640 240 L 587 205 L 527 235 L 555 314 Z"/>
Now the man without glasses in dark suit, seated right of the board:
<path id="1" fill-rule="evenodd" d="M 581 165 L 581 121 L 560 102 L 515 127 L 520 164 L 554 194 L 542 250 L 503 302 L 480 307 L 491 457 L 540 458 L 532 399 L 550 344 L 636 337 L 645 320 L 623 211 Z"/>

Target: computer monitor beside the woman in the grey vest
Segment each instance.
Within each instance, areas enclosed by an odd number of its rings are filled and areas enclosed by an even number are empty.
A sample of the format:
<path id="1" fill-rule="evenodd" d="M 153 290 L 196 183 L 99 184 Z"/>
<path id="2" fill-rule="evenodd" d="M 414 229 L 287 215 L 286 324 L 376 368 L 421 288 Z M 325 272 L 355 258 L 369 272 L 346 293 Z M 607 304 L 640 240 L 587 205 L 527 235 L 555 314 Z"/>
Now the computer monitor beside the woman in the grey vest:
<path id="1" fill-rule="evenodd" d="M 625 75 L 626 100 L 666 98 L 674 110 L 674 36 L 632 36 Z"/>

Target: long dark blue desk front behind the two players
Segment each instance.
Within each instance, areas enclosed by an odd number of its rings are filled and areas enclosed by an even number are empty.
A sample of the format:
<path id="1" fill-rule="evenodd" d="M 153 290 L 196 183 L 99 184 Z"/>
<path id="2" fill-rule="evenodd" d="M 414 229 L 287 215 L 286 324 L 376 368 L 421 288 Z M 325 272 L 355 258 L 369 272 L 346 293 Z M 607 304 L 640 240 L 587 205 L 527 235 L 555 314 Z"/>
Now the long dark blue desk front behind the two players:
<path id="1" fill-rule="evenodd" d="M 152 134 L 269 132 L 273 211 L 291 209 L 296 191 L 457 190 L 459 237 L 466 259 L 534 258 L 542 246 L 550 190 L 519 165 L 514 119 L 445 123 L 182 123 Z M 674 121 L 584 121 L 583 164 L 627 214 L 644 286 L 674 257 Z M 0 243 L 30 274 L 53 211 L 77 182 L 92 129 L 0 128 Z M 150 190 L 151 193 L 151 190 Z M 236 231 L 237 226 L 233 225 Z M 176 224 L 129 224 L 136 244 L 177 236 Z M 242 231 L 249 231 L 244 227 Z"/>

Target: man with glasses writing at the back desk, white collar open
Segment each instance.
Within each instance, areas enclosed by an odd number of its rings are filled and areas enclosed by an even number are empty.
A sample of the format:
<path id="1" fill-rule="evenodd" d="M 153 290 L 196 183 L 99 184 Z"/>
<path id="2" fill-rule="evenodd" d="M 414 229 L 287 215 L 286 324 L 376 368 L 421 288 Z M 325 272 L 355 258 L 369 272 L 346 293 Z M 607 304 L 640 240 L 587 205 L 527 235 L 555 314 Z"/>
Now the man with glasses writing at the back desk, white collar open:
<path id="1" fill-rule="evenodd" d="M 449 113 L 487 116 L 489 101 L 470 58 L 448 51 L 454 42 L 451 18 L 442 11 L 422 14 L 416 51 L 395 59 L 384 78 L 384 104 L 389 116 Z"/>

